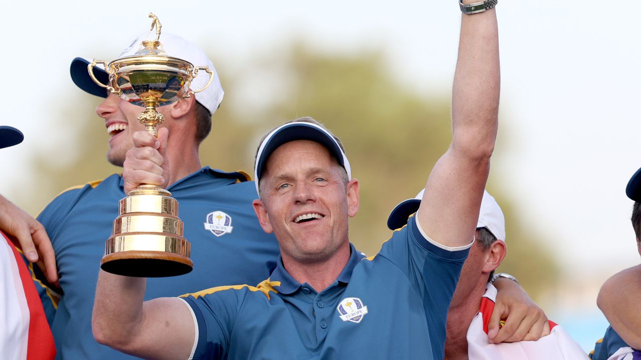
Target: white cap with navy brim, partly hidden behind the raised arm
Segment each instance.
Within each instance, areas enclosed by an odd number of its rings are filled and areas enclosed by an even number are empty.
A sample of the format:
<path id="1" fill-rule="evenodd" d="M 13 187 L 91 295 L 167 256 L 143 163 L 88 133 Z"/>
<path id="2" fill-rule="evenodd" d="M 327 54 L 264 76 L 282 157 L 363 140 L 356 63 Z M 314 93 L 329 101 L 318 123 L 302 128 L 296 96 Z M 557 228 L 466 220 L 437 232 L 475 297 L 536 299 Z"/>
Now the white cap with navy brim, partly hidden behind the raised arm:
<path id="1" fill-rule="evenodd" d="M 425 189 L 420 190 L 414 199 L 404 200 L 395 206 L 387 218 L 387 227 L 395 230 L 407 224 L 407 219 L 410 215 L 419 209 L 420 200 L 423 199 L 423 192 L 425 192 Z M 503 216 L 503 211 L 501 211 L 501 207 L 487 190 L 483 192 L 481 211 L 479 212 L 479 220 L 476 227 L 485 227 L 495 238 L 505 241 L 505 217 Z"/>

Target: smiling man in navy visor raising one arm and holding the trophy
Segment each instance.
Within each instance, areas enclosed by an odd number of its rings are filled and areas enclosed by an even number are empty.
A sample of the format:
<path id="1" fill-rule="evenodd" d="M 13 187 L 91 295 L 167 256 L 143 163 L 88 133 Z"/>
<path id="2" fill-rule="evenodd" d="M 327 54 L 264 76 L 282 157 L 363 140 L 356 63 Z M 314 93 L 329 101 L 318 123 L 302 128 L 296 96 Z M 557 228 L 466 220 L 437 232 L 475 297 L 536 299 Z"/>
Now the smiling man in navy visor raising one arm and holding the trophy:
<path id="1" fill-rule="evenodd" d="M 96 339 L 154 359 L 442 359 L 497 131 L 494 4 L 476 13 L 462 6 L 453 142 L 417 215 L 378 255 L 363 259 L 349 243 L 359 182 L 340 142 L 311 119 L 284 124 L 265 136 L 254 169 L 254 211 L 281 250 L 269 279 L 145 302 L 146 279 L 101 272 Z M 134 135 L 137 145 L 158 147 L 149 140 Z M 431 167 L 420 155 L 417 164 Z M 147 168 L 155 181 L 162 165 Z M 137 171 L 126 166 L 124 176 L 140 180 Z"/>

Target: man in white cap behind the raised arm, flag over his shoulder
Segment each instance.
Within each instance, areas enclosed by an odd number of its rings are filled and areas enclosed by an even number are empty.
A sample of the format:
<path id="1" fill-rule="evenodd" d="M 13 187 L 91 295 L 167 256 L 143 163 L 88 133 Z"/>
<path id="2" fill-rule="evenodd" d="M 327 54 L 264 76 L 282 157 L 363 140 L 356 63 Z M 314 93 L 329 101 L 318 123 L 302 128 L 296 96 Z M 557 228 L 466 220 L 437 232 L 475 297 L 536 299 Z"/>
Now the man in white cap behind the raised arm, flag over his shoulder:
<path id="1" fill-rule="evenodd" d="M 422 198 L 423 191 L 414 199 L 399 203 L 388 217 L 388 227 L 394 230 L 406 226 L 408 218 L 419 209 Z M 495 307 L 494 284 L 516 281 L 508 274 L 494 274 L 506 255 L 505 237 L 503 211 L 486 191 L 476 224 L 476 245 L 472 245 L 465 259 L 447 313 L 445 359 L 585 359 L 587 355 L 578 343 L 554 322 L 548 321 L 542 329 L 513 323 L 510 317 L 504 322 L 501 320 L 507 314 Z M 524 336 L 517 334 L 522 340 L 492 343 L 499 322 L 503 330 L 513 327 L 514 332 L 525 333 Z M 544 336 L 539 339 L 541 335 Z"/>

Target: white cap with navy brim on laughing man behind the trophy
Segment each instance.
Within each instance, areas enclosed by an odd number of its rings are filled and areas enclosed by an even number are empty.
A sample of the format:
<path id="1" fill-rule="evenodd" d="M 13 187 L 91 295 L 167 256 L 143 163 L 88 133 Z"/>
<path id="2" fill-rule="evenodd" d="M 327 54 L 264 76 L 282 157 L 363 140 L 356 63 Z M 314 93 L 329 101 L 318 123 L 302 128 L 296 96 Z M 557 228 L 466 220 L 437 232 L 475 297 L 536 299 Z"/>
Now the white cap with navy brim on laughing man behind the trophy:
<path id="1" fill-rule="evenodd" d="M 138 37 L 133 39 L 133 41 L 129 43 L 128 47 L 122 51 L 118 58 L 132 56 L 136 51 L 138 51 L 140 42 L 143 40 L 154 40 L 154 38 L 155 34 L 152 34 L 151 32 L 138 35 Z M 194 65 L 194 68 L 199 66 L 208 66 L 212 71 L 212 83 L 202 92 L 196 93 L 196 100 L 209 111 L 210 115 L 213 115 L 221 104 L 224 91 L 222 90 L 221 80 L 218 78 L 216 69 L 213 67 L 212 60 L 209 60 L 203 49 L 193 42 L 189 42 L 184 38 L 179 37 L 178 35 L 162 33 L 160 35 L 160 44 L 162 44 L 162 48 L 165 50 L 165 53 L 167 53 L 167 56 L 189 61 Z M 75 58 L 72 60 L 70 69 L 71 79 L 79 88 L 85 90 L 89 94 L 106 97 L 106 90 L 94 83 L 94 81 L 89 77 L 89 73 L 87 71 L 87 65 L 89 63 L 91 63 L 91 61 L 88 61 L 85 58 Z M 94 74 L 96 74 L 96 78 L 100 81 L 104 81 L 103 83 L 108 81 L 108 76 L 101 65 L 94 67 Z M 209 74 L 204 70 L 201 70 L 198 72 L 198 76 L 192 80 L 189 87 L 192 90 L 198 90 L 206 85 L 207 81 L 209 81 Z"/>

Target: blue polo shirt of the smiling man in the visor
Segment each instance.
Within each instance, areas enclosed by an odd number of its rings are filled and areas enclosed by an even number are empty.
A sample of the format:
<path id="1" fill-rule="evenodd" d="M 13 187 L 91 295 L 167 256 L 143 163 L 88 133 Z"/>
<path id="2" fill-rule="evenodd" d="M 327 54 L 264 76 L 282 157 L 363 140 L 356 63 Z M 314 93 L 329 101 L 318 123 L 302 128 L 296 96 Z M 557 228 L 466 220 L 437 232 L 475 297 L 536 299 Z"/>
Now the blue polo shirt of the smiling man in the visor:
<path id="1" fill-rule="evenodd" d="M 256 287 L 183 295 L 196 318 L 192 358 L 443 359 L 447 309 L 470 245 L 445 249 L 412 217 L 372 258 L 350 245 L 347 266 L 320 293 L 279 261 Z"/>

